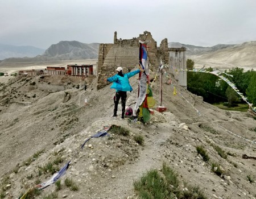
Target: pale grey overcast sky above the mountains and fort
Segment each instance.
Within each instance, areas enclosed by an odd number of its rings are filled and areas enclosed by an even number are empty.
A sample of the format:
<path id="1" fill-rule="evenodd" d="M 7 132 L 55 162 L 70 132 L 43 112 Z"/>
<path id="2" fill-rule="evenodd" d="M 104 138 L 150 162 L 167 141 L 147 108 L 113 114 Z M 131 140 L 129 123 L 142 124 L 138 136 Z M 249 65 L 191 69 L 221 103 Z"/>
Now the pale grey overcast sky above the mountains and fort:
<path id="1" fill-rule="evenodd" d="M 255 0 L 0 0 L 0 44 L 113 43 L 149 31 L 213 46 L 256 40 Z"/>

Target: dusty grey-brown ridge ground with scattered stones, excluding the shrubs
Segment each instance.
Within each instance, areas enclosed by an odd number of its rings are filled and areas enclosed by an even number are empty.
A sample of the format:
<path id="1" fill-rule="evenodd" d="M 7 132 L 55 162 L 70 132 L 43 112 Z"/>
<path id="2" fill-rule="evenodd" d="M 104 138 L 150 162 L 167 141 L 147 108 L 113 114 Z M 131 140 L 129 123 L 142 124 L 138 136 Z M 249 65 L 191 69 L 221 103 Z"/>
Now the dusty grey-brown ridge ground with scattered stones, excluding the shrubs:
<path id="1" fill-rule="evenodd" d="M 126 105 L 133 107 L 138 76 L 130 82 L 134 91 L 127 93 Z M 19 76 L 2 81 L 3 198 L 18 198 L 28 188 L 47 181 L 52 174 L 39 175 L 39 168 L 56 157 L 62 160 L 58 168 L 71 160 L 61 183 L 69 177 L 79 186 L 78 191 L 71 191 L 63 185 L 57 192 L 59 198 L 136 198 L 133 182 L 150 169 L 160 169 L 163 162 L 179 173 L 180 180 L 198 185 L 208 198 L 256 198 L 256 160 L 242 159 L 243 154 L 256 156 L 255 119 L 246 113 L 218 109 L 177 86 L 175 80 L 172 82 L 178 91 L 176 96 L 173 85 L 163 85 L 163 106 L 167 111 L 155 110 L 150 123 L 143 124 L 121 119 L 121 106 L 119 116 L 111 117 L 114 90 L 110 85 L 96 90 L 96 79 L 88 83 L 79 78 Z M 65 90 L 46 90 L 42 85 L 64 85 Z M 152 83 L 152 89 L 156 108 L 160 104 L 158 80 Z M 86 105 L 84 99 L 88 100 Z M 127 128 L 130 135 L 110 132 L 109 136 L 90 139 L 80 149 L 86 138 L 106 125 Z M 143 136 L 143 146 L 134 141 L 134 135 Z M 218 155 L 213 145 L 229 152 L 228 158 Z M 197 154 L 196 146 L 204 146 L 209 163 Z M 39 151 L 40 155 L 31 160 Z M 220 164 L 224 175 L 212 172 L 210 162 Z M 247 176 L 253 181 L 249 182 Z M 48 186 L 36 198 L 55 189 L 55 185 Z"/>

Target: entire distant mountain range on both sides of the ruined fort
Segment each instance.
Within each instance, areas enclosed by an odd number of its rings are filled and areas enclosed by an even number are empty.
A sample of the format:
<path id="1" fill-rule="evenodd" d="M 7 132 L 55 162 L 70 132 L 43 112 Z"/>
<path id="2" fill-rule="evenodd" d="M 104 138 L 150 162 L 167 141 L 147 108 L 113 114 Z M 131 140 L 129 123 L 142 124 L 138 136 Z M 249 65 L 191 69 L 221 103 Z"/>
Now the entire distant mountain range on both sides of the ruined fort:
<path id="1" fill-rule="evenodd" d="M 62 41 L 57 44 L 52 44 L 45 52 L 43 52 L 43 49 L 35 47 L 0 45 L 0 57 L 14 57 L 4 59 L 0 62 L 98 59 L 99 45 L 99 43 L 85 44 L 77 41 Z M 248 69 L 256 69 L 256 41 L 232 45 L 218 44 L 213 47 L 200 47 L 171 42 L 168 43 L 168 47 L 185 47 L 187 49 L 187 58 L 194 60 L 196 67 L 206 65 L 216 68 L 247 67 Z"/>

